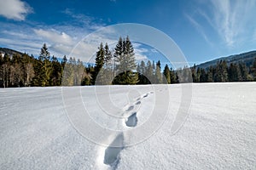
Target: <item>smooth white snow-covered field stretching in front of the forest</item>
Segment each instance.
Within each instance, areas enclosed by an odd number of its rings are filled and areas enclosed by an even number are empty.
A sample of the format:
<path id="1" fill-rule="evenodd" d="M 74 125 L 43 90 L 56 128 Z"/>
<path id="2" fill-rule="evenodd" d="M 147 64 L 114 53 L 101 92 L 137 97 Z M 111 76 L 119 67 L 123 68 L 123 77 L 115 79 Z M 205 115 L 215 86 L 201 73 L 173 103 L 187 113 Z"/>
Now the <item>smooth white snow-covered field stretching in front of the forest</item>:
<path id="1" fill-rule="evenodd" d="M 0 89 L 0 169 L 256 169 L 256 83 L 191 85 L 173 134 L 185 86 Z"/>

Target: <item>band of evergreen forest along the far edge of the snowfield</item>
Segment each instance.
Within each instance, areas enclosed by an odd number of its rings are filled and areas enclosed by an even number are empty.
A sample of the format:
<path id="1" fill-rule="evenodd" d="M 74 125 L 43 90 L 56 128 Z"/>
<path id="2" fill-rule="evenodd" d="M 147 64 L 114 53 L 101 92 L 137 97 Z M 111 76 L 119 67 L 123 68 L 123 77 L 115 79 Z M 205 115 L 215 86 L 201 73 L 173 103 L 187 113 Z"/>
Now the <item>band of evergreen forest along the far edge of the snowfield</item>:
<path id="1" fill-rule="evenodd" d="M 218 61 L 208 68 L 184 66 L 172 69 L 160 60 L 137 63 L 129 37 L 119 37 L 114 51 L 101 43 L 95 64 L 80 59 L 51 56 L 44 43 L 38 57 L 28 54 L 0 55 L 0 88 L 80 86 L 110 84 L 153 84 L 183 82 L 251 82 L 256 81 L 256 59 L 243 62 Z"/>

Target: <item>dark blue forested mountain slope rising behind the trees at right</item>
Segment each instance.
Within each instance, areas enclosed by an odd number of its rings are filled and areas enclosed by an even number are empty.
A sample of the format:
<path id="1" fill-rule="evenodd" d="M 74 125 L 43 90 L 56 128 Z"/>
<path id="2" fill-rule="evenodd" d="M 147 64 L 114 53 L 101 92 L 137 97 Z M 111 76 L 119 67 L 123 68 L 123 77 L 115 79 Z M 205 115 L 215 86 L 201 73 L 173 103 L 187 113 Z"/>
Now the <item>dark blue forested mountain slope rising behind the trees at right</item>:
<path id="1" fill-rule="evenodd" d="M 243 53 L 243 54 L 235 54 L 235 55 L 230 55 L 228 57 L 221 57 L 218 59 L 213 59 L 211 61 L 207 61 L 200 65 L 196 65 L 196 67 L 207 69 L 211 65 L 212 66 L 217 65 L 218 61 L 220 61 L 220 60 L 225 60 L 228 65 L 230 65 L 230 63 L 244 63 L 247 66 L 250 66 L 250 65 L 253 65 L 254 59 L 256 59 L 256 51 L 250 51 L 250 52 Z"/>

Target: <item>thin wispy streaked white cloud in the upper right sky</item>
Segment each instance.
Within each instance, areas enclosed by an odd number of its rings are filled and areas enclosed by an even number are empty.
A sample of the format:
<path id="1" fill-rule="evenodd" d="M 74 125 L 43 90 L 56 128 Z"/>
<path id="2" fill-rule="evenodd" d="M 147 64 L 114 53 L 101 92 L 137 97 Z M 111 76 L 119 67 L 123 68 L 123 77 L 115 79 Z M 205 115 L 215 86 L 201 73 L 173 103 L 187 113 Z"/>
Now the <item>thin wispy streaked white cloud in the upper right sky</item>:
<path id="1" fill-rule="evenodd" d="M 205 19 L 218 32 L 228 47 L 235 47 L 248 36 L 252 36 L 251 26 L 256 24 L 256 1 L 211 0 L 201 4 L 201 8 L 197 8 L 196 13 L 187 18 L 205 39 L 207 36 L 203 29 L 207 28 L 202 27 L 203 24 L 199 24 L 201 22 L 196 22 L 199 17 Z"/>

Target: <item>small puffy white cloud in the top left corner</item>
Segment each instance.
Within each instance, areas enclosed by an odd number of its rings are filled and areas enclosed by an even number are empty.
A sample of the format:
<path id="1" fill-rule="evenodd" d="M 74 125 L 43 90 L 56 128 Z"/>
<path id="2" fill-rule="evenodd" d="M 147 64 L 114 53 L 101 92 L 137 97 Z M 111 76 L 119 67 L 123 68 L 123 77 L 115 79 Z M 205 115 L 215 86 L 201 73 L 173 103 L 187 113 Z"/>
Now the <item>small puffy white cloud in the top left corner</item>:
<path id="1" fill-rule="evenodd" d="M 32 8 L 20 0 L 0 0 L 0 15 L 13 20 L 25 20 Z"/>

